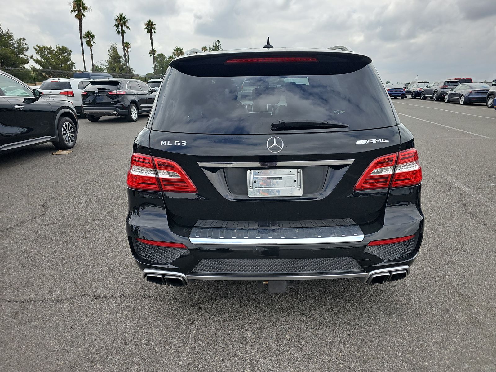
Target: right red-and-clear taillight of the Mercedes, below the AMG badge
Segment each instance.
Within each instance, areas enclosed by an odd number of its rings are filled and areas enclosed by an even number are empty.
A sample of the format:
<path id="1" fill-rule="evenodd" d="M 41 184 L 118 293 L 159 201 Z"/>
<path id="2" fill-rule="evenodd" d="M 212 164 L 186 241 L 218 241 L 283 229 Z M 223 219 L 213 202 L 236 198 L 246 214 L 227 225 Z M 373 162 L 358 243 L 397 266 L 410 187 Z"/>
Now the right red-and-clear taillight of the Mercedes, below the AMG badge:
<path id="1" fill-rule="evenodd" d="M 415 148 L 383 155 L 375 159 L 362 174 L 354 189 L 415 186 L 422 182 L 422 168 Z"/>

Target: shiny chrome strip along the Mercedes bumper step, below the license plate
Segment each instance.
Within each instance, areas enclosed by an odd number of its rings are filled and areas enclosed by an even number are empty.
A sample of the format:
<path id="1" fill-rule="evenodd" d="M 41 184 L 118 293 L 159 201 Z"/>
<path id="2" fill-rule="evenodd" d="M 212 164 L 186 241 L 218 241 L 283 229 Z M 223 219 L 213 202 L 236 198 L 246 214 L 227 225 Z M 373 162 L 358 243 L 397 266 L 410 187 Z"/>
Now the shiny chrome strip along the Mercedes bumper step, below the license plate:
<path id="1" fill-rule="evenodd" d="M 356 243 L 364 240 L 365 235 L 353 235 L 347 237 L 325 237 L 325 238 L 301 238 L 301 239 L 212 239 L 212 238 L 189 238 L 192 244 L 319 244 L 319 243 Z"/>

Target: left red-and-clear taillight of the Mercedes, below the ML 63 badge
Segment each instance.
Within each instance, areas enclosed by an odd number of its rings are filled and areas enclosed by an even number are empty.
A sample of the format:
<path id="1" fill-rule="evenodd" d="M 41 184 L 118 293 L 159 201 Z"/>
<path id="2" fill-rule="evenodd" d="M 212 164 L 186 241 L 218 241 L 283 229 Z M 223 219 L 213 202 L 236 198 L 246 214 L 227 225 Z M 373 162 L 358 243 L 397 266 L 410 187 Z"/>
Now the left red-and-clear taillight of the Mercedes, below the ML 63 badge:
<path id="1" fill-rule="evenodd" d="M 137 153 L 131 157 L 127 186 L 148 191 L 197 191 L 183 168 L 176 162 Z"/>

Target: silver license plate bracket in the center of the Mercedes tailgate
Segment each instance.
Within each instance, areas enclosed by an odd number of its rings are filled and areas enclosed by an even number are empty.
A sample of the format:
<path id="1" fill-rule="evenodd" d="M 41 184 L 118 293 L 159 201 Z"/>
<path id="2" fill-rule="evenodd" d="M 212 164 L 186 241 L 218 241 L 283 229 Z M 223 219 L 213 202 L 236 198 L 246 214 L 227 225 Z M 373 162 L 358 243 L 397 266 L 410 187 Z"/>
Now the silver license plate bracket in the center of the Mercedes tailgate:
<path id="1" fill-rule="evenodd" d="M 302 196 L 301 169 L 249 169 L 248 197 Z"/>

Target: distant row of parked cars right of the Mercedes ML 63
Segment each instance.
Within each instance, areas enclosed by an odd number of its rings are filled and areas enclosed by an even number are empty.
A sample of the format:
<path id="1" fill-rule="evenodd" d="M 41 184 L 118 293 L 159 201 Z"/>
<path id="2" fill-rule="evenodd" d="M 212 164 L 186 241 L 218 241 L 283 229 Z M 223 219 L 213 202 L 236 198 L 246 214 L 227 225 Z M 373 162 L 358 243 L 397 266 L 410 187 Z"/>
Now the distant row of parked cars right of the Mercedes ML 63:
<path id="1" fill-rule="evenodd" d="M 454 102 L 460 105 L 485 103 L 494 107 L 496 96 L 496 79 L 493 81 L 473 82 L 470 78 L 452 78 L 444 80 L 410 81 L 406 84 L 385 84 L 391 98 L 420 98 L 422 100 Z"/>

